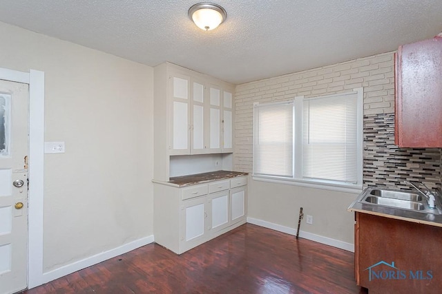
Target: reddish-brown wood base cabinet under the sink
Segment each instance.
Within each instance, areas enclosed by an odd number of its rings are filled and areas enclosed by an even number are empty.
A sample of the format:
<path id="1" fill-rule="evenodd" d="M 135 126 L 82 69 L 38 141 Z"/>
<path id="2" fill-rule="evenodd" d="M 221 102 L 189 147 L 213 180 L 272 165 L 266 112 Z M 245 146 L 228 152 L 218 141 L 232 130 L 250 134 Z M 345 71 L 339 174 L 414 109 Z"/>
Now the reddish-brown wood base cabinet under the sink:
<path id="1" fill-rule="evenodd" d="M 356 283 L 374 293 L 441 293 L 442 227 L 356 212 Z"/>

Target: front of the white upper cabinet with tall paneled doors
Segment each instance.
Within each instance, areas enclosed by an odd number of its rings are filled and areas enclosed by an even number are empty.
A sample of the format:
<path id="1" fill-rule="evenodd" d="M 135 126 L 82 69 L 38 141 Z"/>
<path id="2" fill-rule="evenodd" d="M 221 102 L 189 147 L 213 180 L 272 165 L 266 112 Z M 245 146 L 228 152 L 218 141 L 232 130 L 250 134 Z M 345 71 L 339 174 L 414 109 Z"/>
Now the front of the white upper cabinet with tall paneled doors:
<path id="1" fill-rule="evenodd" d="M 172 74 L 169 80 L 173 94 L 169 154 L 232 152 L 232 94 L 191 76 Z"/>

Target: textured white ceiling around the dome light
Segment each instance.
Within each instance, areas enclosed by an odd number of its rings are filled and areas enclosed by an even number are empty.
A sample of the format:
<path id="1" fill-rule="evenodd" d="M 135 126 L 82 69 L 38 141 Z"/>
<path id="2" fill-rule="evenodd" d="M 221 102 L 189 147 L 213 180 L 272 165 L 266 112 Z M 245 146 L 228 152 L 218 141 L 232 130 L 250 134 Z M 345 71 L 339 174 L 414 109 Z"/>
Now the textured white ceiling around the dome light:
<path id="1" fill-rule="evenodd" d="M 0 0 L 0 21 L 235 84 L 389 52 L 442 31 L 442 0 L 213 2 L 227 21 L 209 32 L 187 16 L 195 0 Z"/>

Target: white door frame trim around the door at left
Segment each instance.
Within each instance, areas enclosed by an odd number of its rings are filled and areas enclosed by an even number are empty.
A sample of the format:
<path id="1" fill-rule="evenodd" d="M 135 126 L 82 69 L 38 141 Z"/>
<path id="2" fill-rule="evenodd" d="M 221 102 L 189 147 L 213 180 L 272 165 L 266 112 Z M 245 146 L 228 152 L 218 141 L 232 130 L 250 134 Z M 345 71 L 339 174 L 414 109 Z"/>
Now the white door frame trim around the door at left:
<path id="1" fill-rule="evenodd" d="M 28 288 L 34 288 L 44 282 L 44 72 L 0 67 L 0 79 L 29 85 Z"/>

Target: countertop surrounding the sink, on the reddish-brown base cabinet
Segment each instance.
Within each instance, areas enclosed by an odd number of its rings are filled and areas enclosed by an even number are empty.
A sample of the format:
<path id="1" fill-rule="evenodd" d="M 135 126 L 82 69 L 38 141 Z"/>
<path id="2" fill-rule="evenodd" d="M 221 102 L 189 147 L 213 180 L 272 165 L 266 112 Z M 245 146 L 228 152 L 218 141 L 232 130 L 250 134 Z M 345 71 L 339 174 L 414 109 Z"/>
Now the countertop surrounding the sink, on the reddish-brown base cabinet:
<path id="1" fill-rule="evenodd" d="M 419 224 L 442 227 L 442 215 L 422 213 L 408 209 L 398 209 L 394 207 L 361 202 L 360 200 L 362 200 L 365 196 L 364 193 L 367 189 L 359 194 L 358 198 L 356 198 L 356 200 L 350 204 L 349 208 L 347 209 L 348 211 L 368 213 L 375 216 L 383 216 L 385 218 L 394 218 L 396 220 L 405 220 L 407 222 L 417 222 Z"/>

